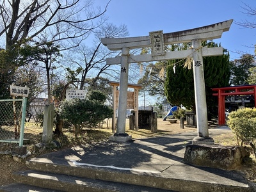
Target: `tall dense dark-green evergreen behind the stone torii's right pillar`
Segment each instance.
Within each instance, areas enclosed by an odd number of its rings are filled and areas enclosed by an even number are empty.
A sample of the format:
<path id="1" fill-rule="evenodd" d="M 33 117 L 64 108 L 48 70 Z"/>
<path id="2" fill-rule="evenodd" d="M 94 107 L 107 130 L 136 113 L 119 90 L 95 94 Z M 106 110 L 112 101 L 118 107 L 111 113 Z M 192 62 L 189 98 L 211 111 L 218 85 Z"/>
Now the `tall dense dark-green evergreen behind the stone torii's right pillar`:
<path id="1" fill-rule="evenodd" d="M 202 46 L 218 47 L 214 42 L 203 42 Z M 186 46 L 184 47 L 186 49 Z M 212 96 L 211 88 L 228 86 L 230 77 L 229 54 L 224 51 L 222 56 L 203 58 L 206 102 L 209 113 L 216 111 L 218 98 Z M 164 93 L 168 101 L 176 106 L 184 105 L 195 110 L 195 89 L 193 70 L 184 68 L 186 60 L 170 60 L 166 69 Z M 175 71 L 173 67 L 175 66 Z"/>

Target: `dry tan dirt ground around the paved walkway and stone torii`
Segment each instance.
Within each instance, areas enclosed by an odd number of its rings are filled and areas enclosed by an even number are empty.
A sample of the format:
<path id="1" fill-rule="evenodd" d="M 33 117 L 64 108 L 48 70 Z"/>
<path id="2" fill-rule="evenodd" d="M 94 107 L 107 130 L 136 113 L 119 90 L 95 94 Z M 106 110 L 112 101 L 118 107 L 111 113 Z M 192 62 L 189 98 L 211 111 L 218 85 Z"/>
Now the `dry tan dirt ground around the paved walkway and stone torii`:
<path id="1" fill-rule="evenodd" d="M 186 125 L 186 123 L 185 123 Z M 111 126 L 111 121 L 108 122 L 108 126 Z M 209 129 L 214 129 L 216 127 L 216 122 L 210 122 Z M 195 131 L 196 128 L 193 127 L 184 127 L 184 129 L 180 129 L 179 121 L 176 124 L 170 124 L 168 121 L 163 121 L 163 119 L 159 118 L 157 121 L 157 133 L 151 132 L 147 129 L 139 129 L 138 131 L 129 130 L 129 120 L 126 122 L 126 132 L 132 135 L 132 139 L 138 138 L 148 138 L 148 137 L 156 137 L 166 134 L 177 134 L 181 132 L 189 132 Z M 64 134 L 69 133 L 69 130 L 63 130 Z M 94 133 L 94 134 L 89 134 Z M 102 134 L 103 133 L 103 134 Z M 111 128 L 107 127 L 107 124 L 102 125 L 101 128 L 97 129 L 87 129 L 86 130 L 86 141 L 84 142 L 98 142 L 100 140 L 107 140 L 109 135 L 113 134 Z M 21 158 L 17 156 L 12 156 L 10 154 L 11 147 L 17 146 L 17 144 L 10 143 L 0 143 L 0 185 L 10 184 L 13 181 L 12 172 L 17 170 L 26 170 L 26 160 L 31 157 L 39 156 L 44 152 L 51 152 L 52 150 L 60 150 L 61 148 L 49 148 L 43 152 L 38 152 L 35 148 L 36 143 L 40 143 L 42 141 L 42 128 L 36 126 L 34 123 L 26 123 L 24 138 L 29 139 L 28 144 L 24 144 L 27 146 L 29 152 L 31 152 L 31 156 L 26 158 Z M 90 140 L 88 139 L 90 138 Z M 220 145 L 237 145 L 236 139 L 234 138 L 234 134 L 230 132 L 230 134 L 220 135 L 214 138 L 214 141 Z M 77 145 L 77 143 L 73 143 L 72 145 Z M 70 147 L 72 145 L 63 145 L 62 148 Z M 79 143 L 78 143 L 79 144 Z M 256 168 L 254 165 L 245 166 L 243 168 L 243 172 L 246 173 L 248 179 L 256 181 Z"/>

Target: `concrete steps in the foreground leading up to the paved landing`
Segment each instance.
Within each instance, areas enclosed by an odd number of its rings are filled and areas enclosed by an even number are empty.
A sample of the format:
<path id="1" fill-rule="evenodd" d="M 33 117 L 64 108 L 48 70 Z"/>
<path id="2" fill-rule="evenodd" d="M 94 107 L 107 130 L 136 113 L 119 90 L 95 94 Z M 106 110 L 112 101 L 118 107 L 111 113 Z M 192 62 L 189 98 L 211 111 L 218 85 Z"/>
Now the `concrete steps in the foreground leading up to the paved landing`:
<path id="1" fill-rule="evenodd" d="M 42 159 L 27 161 L 28 171 L 13 173 L 17 184 L 0 191 L 250 191 L 246 186 L 224 186 L 163 177 L 158 173 L 128 172 L 92 166 L 74 166 Z"/>

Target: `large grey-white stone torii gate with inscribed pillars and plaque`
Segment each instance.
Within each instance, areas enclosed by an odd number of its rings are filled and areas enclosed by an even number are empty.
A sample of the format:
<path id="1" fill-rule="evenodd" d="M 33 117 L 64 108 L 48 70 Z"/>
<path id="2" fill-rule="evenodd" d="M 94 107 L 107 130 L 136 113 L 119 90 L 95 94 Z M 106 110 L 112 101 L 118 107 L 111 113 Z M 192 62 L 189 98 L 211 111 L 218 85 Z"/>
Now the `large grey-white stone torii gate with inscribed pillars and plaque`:
<path id="1" fill-rule="evenodd" d="M 125 133 L 126 118 L 126 98 L 127 84 L 129 74 L 129 63 L 139 63 L 147 61 L 175 60 L 181 58 L 193 58 L 193 76 L 195 84 L 195 104 L 196 104 L 196 124 L 198 136 L 193 139 L 193 144 L 214 144 L 214 140 L 209 138 L 207 123 L 207 107 L 205 99 L 205 81 L 204 81 L 204 65 L 203 56 L 217 56 L 223 54 L 222 47 L 202 47 L 201 42 L 204 40 L 213 40 L 221 38 L 223 32 L 228 31 L 233 20 L 226 20 L 209 26 L 204 26 L 185 31 L 173 33 L 162 33 L 161 31 L 151 32 L 157 34 L 157 40 L 150 36 L 138 36 L 131 38 L 101 38 L 102 44 L 106 45 L 109 50 L 122 50 L 122 56 L 116 58 L 108 58 L 106 63 L 120 64 L 120 97 L 118 101 L 118 120 L 116 127 L 115 140 L 128 141 L 131 136 Z M 160 35 L 159 35 L 160 34 Z M 155 37 L 156 37 L 155 36 Z M 160 37 L 159 37 L 160 36 Z M 192 49 L 185 51 L 164 52 L 164 45 L 192 43 Z M 130 49 L 152 47 L 152 54 L 132 55 L 129 54 Z M 154 52 L 154 48 L 157 49 Z M 159 52 L 157 52 L 159 51 Z"/>

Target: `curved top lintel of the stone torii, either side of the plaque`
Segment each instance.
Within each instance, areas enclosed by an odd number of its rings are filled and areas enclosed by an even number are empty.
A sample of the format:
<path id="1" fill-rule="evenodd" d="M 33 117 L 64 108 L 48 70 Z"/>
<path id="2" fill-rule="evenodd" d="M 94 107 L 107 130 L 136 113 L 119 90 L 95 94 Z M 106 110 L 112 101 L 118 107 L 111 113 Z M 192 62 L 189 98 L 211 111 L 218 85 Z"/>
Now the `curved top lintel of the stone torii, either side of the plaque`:
<path id="1" fill-rule="evenodd" d="M 211 24 L 200 28 L 177 31 L 173 33 L 164 33 L 164 44 L 177 44 L 191 42 L 195 39 L 212 40 L 221 38 L 223 32 L 228 31 L 233 19 Z M 130 49 L 150 47 L 150 36 L 136 36 L 127 38 L 101 38 L 103 45 L 109 50 L 121 50 L 124 47 Z"/>

